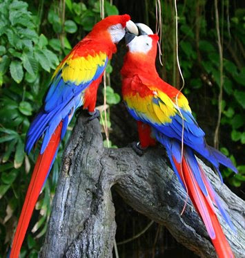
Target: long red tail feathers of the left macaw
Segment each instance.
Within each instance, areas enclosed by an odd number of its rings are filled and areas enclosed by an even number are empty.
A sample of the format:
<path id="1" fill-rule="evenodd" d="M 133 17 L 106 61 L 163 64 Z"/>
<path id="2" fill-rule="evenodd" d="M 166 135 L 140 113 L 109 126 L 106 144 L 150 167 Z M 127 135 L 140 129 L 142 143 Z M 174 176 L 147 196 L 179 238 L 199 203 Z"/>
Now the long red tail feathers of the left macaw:
<path id="1" fill-rule="evenodd" d="M 14 234 L 14 240 L 12 243 L 12 250 L 10 252 L 10 258 L 18 258 L 19 252 L 21 250 L 21 245 L 28 228 L 32 212 L 37 203 L 39 193 L 43 187 L 46 177 L 52 165 L 53 157 L 59 147 L 59 142 L 61 138 L 62 122 L 59 123 L 55 133 L 52 134 L 50 142 L 48 143 L 46 150 L 43 154 L 39 154 L 37 162 L 32 173 L 32 178 L 28 187 L 26 194 L 26 199 L 21 210 L 21 216 L 19 217 L 19 222 L 17 225 L 17 230 Z"/>

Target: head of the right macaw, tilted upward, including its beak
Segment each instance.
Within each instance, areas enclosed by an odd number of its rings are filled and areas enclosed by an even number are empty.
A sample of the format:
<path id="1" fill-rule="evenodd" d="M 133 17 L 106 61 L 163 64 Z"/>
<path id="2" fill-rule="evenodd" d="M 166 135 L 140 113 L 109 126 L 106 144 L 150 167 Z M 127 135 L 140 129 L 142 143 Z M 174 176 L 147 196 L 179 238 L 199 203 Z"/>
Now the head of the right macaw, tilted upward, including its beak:
<path id="1" fill-rule="evenodd" d="M 146 24 L 136 24 L 139 34 L 127 32 L 125 36 L 128 52 L 141 57 L 155 57 L 157 55 L 157 42 L 159 37 L 153 33 Z"/>

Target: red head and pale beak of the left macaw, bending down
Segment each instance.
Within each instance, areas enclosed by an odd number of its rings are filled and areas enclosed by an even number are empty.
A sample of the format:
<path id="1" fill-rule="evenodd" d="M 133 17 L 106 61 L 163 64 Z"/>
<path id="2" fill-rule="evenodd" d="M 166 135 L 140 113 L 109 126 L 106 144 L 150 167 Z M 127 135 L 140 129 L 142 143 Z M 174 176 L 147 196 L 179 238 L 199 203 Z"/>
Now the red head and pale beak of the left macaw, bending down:
<path id="1" fill-rule="evenodd" d="M 138 35 L 137 26 L 129 15 L 110 15 L 95 24 L 88 37 L 101 38 L 117 44 L 125 35 L 125 30 Z"/>

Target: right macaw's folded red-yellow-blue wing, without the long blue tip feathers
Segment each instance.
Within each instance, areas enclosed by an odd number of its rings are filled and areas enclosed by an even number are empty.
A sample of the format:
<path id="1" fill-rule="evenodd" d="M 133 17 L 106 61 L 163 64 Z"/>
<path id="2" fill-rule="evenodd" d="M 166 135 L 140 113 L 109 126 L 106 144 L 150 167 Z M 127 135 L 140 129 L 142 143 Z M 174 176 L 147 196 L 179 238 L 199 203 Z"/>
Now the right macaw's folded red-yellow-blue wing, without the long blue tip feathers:
<path id="1" fill-rule="evenodd" d="M 137 75 L 128 87 L 130 89 L 125 91 L 124 99 L 136 120 L 146 122 L 164 135 L 180 141 L 184 126 L 185 144 L 192 146 L 204 142 L 204 131 L 193 118 L 186 99 L 179 98 L 177 105 L 157 86 L 144 84 Z"/>

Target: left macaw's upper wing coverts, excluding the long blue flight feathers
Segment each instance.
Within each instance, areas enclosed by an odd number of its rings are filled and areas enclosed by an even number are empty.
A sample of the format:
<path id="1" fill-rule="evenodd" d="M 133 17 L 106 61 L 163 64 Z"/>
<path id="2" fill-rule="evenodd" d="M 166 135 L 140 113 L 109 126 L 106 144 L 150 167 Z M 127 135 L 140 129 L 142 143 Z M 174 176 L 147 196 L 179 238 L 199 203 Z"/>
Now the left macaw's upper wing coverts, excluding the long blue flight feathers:
<path id="1" fill-rule="evenodd" d="M 86 43 L 86 42 L 85 42 Z M 81 55 L 81 48 L 87 55 Z M 57 105 L 69 101 L 77 94 L 84 91 L 92 81 L 104 72 L 108 57 L 106 53 L 91 51 L 91 46 L 86 43 L 79 45 L 57 67 L 50 89 L 44 102 L 44 110 L 50 111 Z"/>

